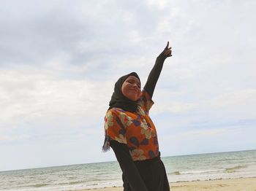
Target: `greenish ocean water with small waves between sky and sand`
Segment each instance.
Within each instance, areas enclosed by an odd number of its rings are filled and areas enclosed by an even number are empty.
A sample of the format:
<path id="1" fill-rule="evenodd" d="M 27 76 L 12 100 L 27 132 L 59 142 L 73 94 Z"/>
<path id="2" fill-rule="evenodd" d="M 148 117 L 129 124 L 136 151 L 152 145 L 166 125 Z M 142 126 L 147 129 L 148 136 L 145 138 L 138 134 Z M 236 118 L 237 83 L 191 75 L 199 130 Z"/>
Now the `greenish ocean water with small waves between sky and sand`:
<path id="1" fill-rule="evenodd" d="M 169 182 L 256 177 L 256 150 L 162 157 Z M 121 186 L 117 162 L 0 171 L 0 190 L 80 190 Z"/>

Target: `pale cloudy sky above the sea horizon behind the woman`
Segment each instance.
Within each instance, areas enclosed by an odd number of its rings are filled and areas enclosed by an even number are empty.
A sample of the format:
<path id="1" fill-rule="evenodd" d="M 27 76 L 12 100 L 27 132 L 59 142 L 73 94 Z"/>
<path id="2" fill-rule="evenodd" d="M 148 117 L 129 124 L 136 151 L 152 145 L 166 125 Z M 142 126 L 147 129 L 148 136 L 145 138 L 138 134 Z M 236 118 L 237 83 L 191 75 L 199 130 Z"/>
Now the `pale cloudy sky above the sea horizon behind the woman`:
<path id="1" fill-rule="evenodd" d="M 256 149 L 256 1 L 1 1 L 0 171 L 116 160 L 118 77 L 145 85 L 162 156 Z"/>

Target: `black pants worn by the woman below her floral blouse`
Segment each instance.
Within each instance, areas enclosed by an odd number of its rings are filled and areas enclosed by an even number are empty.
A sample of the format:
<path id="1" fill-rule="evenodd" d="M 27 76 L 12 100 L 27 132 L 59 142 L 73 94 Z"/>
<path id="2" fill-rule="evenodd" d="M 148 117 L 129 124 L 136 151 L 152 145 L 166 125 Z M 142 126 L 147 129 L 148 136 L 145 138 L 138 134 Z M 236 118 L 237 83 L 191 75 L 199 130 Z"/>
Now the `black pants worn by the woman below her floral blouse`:
<path id="1" fill-rule="evenodd" d="M 165 165 L 160 157 L 152 160 L 135 161 L 135 165 L 140 172 L 143 182 L 146 184 L 148 191 L 169 191 L 169 182 L 167 179 Z M 126 177 L 122 176 L 124 182 L 124 191 L 132 191 Z"/>

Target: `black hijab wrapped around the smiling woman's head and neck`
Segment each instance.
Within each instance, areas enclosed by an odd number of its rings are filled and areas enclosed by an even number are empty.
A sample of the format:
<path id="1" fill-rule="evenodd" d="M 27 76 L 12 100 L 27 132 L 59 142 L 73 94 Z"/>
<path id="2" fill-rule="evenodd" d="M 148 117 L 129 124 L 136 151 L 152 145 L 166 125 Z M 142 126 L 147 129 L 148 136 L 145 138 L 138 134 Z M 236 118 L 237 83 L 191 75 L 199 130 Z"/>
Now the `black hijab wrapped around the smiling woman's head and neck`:
<path id="1" fill-rule="evenodd" d="M 118 107 L 127 112 L 136 112 L 138 106 L 137 101 L 130 100 L 121 92 L 121 86 L 129 76 L 137 77 L 140 80 L 140 77 L 135 72 L 120 77 L 115 84 L 114 92 L 109 103 L 110 107 L 108 109 Z"/>

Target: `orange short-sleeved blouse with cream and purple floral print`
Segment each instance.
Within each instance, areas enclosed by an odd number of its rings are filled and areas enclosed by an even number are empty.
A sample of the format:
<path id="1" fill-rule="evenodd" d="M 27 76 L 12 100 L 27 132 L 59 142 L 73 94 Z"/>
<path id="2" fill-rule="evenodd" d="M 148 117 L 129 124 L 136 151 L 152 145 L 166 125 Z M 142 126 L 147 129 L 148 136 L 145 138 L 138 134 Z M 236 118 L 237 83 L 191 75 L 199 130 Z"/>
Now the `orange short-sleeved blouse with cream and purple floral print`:
<path id="1" fill-rule="evenodd" d="M 132 160 L 146 160 L 159 155 L 157 130 L 148 116 L 154 102 L 143 90 L 137 112 L 112 108 L 105 115 L 105 141 L 127 144 Z"/>

